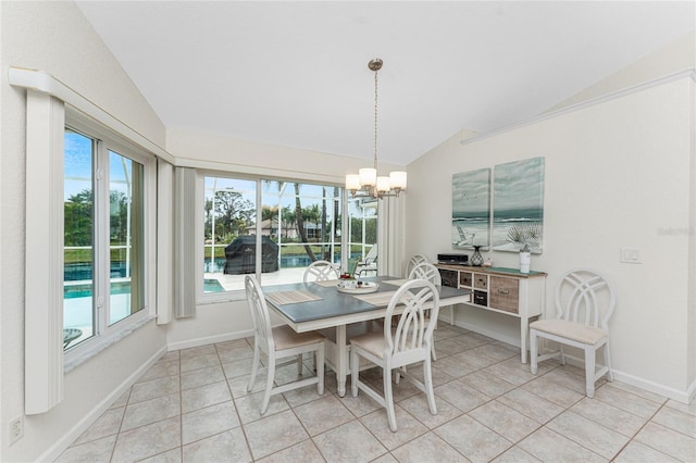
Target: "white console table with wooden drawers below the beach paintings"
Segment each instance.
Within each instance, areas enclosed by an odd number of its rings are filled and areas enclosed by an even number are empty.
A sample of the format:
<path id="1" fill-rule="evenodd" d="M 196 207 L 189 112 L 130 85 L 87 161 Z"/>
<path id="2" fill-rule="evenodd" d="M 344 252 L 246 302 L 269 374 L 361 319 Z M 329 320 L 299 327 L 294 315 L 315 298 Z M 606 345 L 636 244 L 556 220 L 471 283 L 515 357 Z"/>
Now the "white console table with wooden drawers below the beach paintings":
<path id="1" fill-rule="evenodd" d="M 436 264 L 443 285 L 472 291 L 469 306 L 520 318 L 520 350 L 526 363 L 530 323 L 539 317 L 546 303 L 546 273 L 520 273 L 517 268 Z M 450 324 L 455 324 L 453 308 Z"/>

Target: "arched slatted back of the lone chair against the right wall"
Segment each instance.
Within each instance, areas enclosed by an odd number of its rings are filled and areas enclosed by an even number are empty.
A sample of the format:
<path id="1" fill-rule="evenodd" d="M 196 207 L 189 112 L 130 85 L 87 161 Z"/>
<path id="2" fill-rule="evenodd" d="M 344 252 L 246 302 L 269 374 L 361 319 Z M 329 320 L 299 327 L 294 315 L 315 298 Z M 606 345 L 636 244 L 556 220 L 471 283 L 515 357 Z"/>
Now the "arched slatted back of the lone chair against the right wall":
<path id="1" fill-rule="evenodd" d="M 574 270 L 561 278 L 556 289 L 558 317 L 607 329 L 616 305 L 610 283 L 588 270 Z"/>

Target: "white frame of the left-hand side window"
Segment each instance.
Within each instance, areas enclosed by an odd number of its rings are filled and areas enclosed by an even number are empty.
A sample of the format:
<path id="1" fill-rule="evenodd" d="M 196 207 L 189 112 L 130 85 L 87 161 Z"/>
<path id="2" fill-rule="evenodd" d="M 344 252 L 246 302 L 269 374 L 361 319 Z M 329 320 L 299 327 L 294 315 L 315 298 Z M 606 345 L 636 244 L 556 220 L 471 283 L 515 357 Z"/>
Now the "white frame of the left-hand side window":
<path id="1" fill-rule="evenodd" d="M 95 286 L 95 295 L 104 297 L 104 309 L 96 306 L 92 302 L 92 315 L 96 317 L 96 333 L 88 339 L 69 347 L 64 351 L 65 370 L 76 366 L 77 363 L 89 359 L 112 343 L 116 342 L 128 333 L 145 325 L 154 318 L 156 296 L 157 296 L 157 158 L 141 147 L 128 141 L 123 136 L 109 129 L 104 125 L 94 121 L 78 110 L 65 105 L 64 128 L 84 135 L 96 141 L 95 151 L 97 159 L 95 162 L 95 175 L 102 175 L 104 182 L 101 185 L 95 185 L 95 207 L 94 207 L 94 226 L 95 237 L 92 248 L 95 249 L 92 280 Z M 110 286 L 110 239 L 109 239 L 109 151 L 126 157 L 133 161 L 142 164 L 142 196 L 144 196 L 144 290 L 145 306 L 138 312 L 122 318 L 112 325 L 109 325 L 110 291 L 104 288 Z M 105 162 L 105 167 L 99 164 L 99 160 Z M 104 172 L 105 168 L 105 172 Z M 58 174 L 57 174 L 58 175 Z M 61 171 L 60 175 L 64 173 Z M 101 203 L 101 209 L 98 208 Z M 101 213 L 101 214 L 100 214 Z M 63 211 L 61 211 L 61 220 Z M 63 252 L 63 249 L 61 249 Z M 63 270 L 60 270 L 61 274 Z M 61 285 L 63 279 L 61 278 Z"/>

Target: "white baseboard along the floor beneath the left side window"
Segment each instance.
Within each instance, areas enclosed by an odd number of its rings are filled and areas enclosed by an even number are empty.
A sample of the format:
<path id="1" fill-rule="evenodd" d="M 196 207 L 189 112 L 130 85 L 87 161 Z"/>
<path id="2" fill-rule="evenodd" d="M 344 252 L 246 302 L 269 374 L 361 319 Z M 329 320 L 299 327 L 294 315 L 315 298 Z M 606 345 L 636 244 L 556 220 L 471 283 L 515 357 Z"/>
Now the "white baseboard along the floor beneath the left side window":
<path id="1" fill-rule="evenodd" d="M 63 435 L 60 439 L 58 439 L 51 447 L 49 447 L 46 452 L 44 452 L 37 461 L 46 461 L 52 462 L 58 460 L 58 458 L 70 447 L 71 443 L 75 441 L 84 431 L 86 431 L 89 426 L 91 426 L 99 416 L 101 416 L 113 402 L 115 402 L 121 396 L 123 396 L 130 386 L 133 386 L 139 378 L 142 376 L 145 372 L 147 372 L 150 366 L 154 365 L 154 363 L 160 360 L 162 355 L 166 353 L 166 347 L 162 347 L 154 354 L 152 354 L 147 362 L 145 362 L 138 370 L 133 372 L 126 379 L 119 385 L 111 393 L 103 398 L 101 402 L 99 402 L 89 413 L 85 414 L 82 420 L 79 420 L 66 434 Z"/>

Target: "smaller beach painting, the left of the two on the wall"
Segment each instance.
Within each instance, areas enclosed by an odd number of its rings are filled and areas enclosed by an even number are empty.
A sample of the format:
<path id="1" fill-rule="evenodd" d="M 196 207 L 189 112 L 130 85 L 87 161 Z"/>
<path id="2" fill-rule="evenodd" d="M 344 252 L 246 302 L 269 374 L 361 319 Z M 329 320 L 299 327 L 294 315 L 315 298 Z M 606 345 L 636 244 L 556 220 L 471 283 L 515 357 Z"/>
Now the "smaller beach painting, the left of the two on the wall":
<path id="1" fill-rule="evenodd" d="M 452 175 L 452 248 L 490 246 L 490 168 Z"/>

